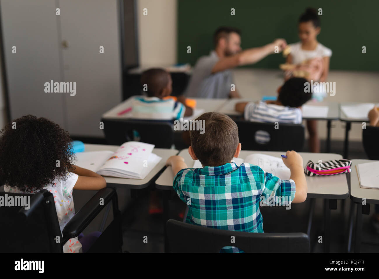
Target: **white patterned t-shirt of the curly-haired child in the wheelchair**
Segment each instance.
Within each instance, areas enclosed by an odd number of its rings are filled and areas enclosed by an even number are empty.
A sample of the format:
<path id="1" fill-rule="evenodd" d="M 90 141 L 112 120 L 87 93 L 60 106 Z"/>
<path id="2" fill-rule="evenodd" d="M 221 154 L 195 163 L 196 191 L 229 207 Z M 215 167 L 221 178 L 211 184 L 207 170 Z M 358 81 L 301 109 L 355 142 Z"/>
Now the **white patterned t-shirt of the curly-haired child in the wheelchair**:
<path id="1" fill-rule="evenodd" d="M 58 215 L 59 226 L 62 230 L 68 221 L 75 215 L 74 199 L 72 198 L 72 189 L 78 180 L 76 173 L 67 172 L 67 179 L 65 181 L 54 180 L 51 185 L 45 185 L 43 189 L 47 189 L 53 194 L 56 214 Z M 17 188 L 10 188 L 4 185 L 5 192 L 23 193 Z M 34 191 L 31 191 L 33 193 Z M 63 246 L 64 253 L 81 253 L 81 244 L 77 237 L 71 238 Z"/>

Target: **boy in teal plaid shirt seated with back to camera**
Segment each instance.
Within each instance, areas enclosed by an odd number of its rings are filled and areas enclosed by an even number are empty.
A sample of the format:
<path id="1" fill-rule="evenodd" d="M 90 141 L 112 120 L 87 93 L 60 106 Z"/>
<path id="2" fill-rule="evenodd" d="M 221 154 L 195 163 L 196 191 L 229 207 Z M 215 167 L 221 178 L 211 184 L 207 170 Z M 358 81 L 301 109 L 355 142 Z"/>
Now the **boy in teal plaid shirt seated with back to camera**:
<path id="1" fill-rule="evenodd" d="M 186 223 L 263 233 L 261 196 L 266 201 L 270 196 L 283 197 L 292 203 L 305 201 L 307 182 L 298 153 L 287 151 L 287 158 L 283 158 L 291 170 L 290 180 L 280 180 L 248 163 L 238 167 L 231 162 L 241 151 L 236 123 L 217 112 L 203 113 L 196 120 L 205 120 L 205 133 L 190 131 L 188 152 L 192 159 L 199 159 L 203 168 L 188 168 L 180 156 L 171 156 L 166 162 L 172 166 L 173 187 L 179 198 L 186 204 L 188 199 L 191 201 Z"/>

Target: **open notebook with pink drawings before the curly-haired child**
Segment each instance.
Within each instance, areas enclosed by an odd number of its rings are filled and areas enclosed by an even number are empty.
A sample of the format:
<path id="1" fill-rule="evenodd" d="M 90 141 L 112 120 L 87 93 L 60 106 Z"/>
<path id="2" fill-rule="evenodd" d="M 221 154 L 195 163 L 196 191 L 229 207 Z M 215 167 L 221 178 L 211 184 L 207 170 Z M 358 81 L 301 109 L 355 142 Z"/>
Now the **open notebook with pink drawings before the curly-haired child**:
<path id="1" fill-rule="evenodd" d="M 125 142 L 116 152 L 88 151 L 75 154 L 79 167 L 100 175 L 144 179 L 161 161 L 152 153 L 154 145 L 143 142 Z"/>

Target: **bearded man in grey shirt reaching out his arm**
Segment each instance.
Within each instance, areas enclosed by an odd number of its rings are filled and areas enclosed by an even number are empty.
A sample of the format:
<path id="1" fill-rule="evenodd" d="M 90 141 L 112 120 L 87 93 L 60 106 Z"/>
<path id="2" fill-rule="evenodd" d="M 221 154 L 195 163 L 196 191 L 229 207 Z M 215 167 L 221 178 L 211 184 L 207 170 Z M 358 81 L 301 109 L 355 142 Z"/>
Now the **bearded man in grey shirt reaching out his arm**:
<path id="1" fill-rule="evenodd" d="M 254 64 L 274 53 L 275 47 L 281 52 L 287 46 L 284 39 L 276 39 L 273 43 L 262 47 L 242 50 L 240 34 L 240 30 L 232 27 L 220 27 L 216 30 L 213 35 L 215 49 L 210 55 L 197 60 L 186 89 L 186 97 L 240 97 L 235 89 L 230 69 Z"/>

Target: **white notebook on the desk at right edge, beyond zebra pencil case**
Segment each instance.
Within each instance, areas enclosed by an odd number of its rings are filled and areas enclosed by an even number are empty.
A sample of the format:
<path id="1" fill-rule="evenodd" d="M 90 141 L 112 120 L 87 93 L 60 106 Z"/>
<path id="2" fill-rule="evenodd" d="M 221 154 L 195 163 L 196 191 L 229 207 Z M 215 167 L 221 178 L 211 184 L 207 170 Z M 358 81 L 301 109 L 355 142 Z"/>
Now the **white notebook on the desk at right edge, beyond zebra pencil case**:
<path id="1" fill-rule="evenodd" d="M 360 188 L 379 189 L 379 162 L 356 165 Z"/>

